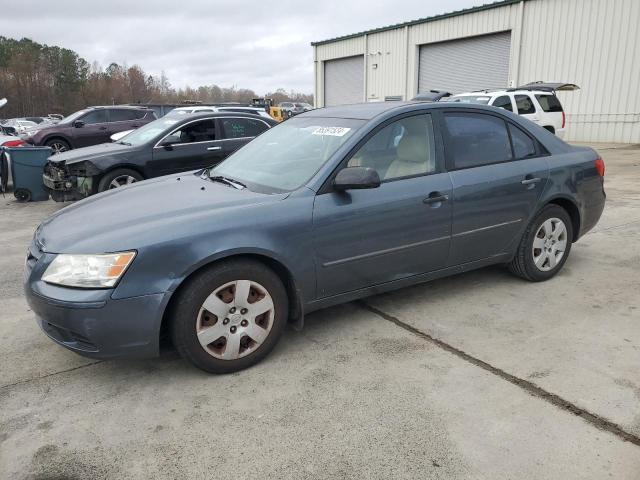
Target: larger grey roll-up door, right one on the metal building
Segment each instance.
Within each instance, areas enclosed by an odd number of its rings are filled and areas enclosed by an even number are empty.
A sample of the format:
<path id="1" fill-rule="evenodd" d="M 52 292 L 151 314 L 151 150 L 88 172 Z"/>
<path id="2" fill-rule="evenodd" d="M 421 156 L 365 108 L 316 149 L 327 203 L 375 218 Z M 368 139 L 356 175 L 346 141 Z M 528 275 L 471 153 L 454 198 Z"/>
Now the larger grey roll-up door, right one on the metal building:
<path id="1" fill-rule="evenodd" d="M 511 32 L 423 45 L 418 92 L 461 93 L 507 87 L 510 49 Z"/>

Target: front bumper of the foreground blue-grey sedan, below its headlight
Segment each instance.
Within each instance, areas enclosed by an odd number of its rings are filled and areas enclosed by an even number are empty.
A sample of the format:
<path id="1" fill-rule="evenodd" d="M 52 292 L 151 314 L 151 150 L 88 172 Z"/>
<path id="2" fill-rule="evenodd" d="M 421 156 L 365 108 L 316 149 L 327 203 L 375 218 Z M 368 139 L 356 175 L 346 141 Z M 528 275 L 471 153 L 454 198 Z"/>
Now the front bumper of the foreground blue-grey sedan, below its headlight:
<path id="1" fill-rule="evenodd" d="M 112 289 L 50 285 L 41 277 L 52 257 L 32 242 L 24 272 L 27 303 L 49 338 L 92 358 L 158 355 L 168 294 L 114 299 Z"/>

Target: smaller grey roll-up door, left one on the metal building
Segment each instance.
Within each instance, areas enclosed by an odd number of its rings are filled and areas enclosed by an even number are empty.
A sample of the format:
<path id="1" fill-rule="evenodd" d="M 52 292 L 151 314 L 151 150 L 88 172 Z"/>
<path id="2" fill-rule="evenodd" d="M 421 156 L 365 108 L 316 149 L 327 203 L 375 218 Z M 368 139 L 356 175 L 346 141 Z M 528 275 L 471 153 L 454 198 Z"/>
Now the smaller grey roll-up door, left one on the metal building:
<path id="1" fill-rule="evenodd" d="M 324 105 L 364 101 L 364 57 L 339 58 L 324 62 Z"/>

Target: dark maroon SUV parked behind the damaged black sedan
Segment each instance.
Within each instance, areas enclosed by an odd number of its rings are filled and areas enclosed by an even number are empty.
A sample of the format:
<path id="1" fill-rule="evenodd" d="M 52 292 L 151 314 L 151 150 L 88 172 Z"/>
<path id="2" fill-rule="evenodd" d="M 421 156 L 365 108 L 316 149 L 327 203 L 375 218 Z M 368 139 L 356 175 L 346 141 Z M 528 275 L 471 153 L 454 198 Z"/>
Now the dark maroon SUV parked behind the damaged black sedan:
<path id="1" fill-rule="evenodd" d="M 32 145 L 51 147 L 57 154 L 108 142 L 114 133 L 141 127 L 156 118 L 154 111 L 146 107 L 88 107 L 54 125 L 27 133 L 23 140 Z"/>

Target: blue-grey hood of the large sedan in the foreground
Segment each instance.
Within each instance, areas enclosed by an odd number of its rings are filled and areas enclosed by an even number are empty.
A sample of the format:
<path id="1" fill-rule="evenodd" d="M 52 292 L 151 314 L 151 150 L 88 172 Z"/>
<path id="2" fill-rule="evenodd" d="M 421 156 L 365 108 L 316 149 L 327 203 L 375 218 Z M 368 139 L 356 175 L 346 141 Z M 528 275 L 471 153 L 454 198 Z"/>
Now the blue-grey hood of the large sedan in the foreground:
<path id="1" fill-rule="evenodd" d="M 229 226 L 241 210 L 286 198 L 214 183 L 193 172 L 109 190 L 47 218 L 36 232 L 51 253 L 104 253 L 143 249 Z M 247 225 L 251 228 L 251 225 Z"/>

